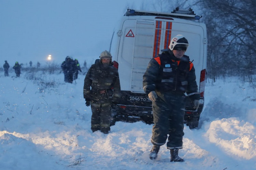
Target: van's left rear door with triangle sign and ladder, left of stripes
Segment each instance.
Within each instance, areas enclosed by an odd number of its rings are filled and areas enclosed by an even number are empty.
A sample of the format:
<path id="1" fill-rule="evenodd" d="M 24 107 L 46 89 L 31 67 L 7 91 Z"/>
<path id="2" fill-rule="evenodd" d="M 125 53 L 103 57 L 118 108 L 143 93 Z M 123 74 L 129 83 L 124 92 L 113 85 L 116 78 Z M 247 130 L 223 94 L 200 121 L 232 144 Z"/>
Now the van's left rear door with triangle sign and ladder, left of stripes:
<path id="1" fill-rule="evenodd" d="M 130 81 L 120 81 L 121 90 L 144 93 L 142 77 L 153 56 L 154 28 L 153 20 L 124 21 L 117 62 L 119 77 Z"/>

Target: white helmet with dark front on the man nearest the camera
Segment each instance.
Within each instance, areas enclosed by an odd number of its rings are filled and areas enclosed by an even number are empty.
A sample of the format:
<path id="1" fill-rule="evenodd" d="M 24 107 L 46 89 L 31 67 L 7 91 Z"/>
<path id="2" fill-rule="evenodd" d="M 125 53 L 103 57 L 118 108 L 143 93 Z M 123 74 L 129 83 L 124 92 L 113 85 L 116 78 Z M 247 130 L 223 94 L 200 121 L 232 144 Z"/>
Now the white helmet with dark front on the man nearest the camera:
<path id="1" fill-rule="evenodd" d="M 188 47 L 188 40 L 181 34 L 173 37 L 169 45 L 170 50 L 182 49 L 186 51 L 187 47 Z"/>

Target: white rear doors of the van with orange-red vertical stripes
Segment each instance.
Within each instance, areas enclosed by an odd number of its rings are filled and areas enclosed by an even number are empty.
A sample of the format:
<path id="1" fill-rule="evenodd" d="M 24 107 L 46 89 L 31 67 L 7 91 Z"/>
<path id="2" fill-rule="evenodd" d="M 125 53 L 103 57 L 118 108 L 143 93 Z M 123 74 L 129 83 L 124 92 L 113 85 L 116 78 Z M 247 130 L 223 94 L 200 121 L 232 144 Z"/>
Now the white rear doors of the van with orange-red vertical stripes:
<path id="1" fill-rule="evenodd" d="M 189 22 L 189 21 L 188 21 Z M 193 61 L 196 75 L 204 65 L 204 29 L 200 23 L 188 24 L 166 20 L 127 19 L 123 23 L 117 62 L 119 63 L 120 77 L 126 78 L 121 83 L 121 90 L 134 93 L 144 93 L 142 87 L 143 74 L 152 57 L 168 49 L 171 38 L 177 34 L 184 35 L 189 42 L 186 55 Z M 197 76 L 200 84 L 200 76 Z"/>

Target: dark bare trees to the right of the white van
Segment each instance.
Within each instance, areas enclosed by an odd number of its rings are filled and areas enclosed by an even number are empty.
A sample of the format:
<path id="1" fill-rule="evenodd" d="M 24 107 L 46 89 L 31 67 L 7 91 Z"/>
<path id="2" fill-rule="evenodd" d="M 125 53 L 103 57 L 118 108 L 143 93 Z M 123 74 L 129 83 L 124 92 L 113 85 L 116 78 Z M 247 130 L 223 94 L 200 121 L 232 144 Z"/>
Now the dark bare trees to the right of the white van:
<path id="1" fill-rule="evenodd" d="M 203 0 L 208 28 L 208 72 L 247 76 L 255 72 L 255 0 Z M 210 70 L 209 70 L 210 69 Z"/>

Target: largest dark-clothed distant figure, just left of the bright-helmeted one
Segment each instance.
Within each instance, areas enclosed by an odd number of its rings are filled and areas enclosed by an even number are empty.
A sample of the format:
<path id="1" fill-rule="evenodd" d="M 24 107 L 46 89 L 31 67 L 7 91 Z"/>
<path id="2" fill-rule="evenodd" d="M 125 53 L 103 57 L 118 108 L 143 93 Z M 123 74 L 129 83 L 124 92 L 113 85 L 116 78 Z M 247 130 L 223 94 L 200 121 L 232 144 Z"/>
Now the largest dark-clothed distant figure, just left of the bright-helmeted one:
<path id="1" fill-rule="evenodd" d="M 65 61 L 62 62 L 61 69 L 64 73 L 64 81 L 73 83 L 73 74 L 76 70 L 76 66 L 70 56 L 67 56 Z"/>

